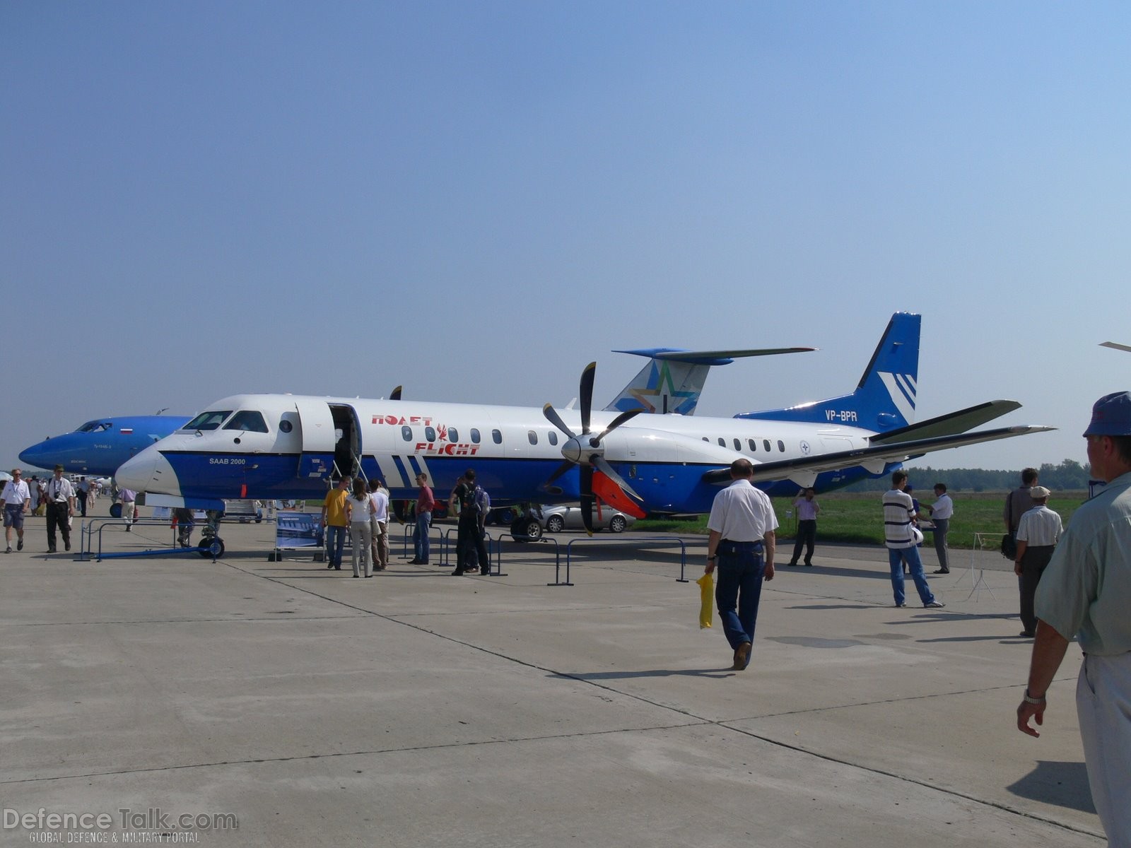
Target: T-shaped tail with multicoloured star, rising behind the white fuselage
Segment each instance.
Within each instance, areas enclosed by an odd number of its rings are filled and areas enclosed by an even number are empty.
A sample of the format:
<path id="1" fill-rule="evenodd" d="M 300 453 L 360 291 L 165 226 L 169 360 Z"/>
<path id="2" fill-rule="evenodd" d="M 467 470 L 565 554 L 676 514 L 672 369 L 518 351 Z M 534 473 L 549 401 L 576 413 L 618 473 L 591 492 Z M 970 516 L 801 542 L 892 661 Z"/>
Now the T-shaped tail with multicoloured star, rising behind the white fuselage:
<path id="1" fill-rule="evenodd" d="M 711 365 L 728 365 L 745 356 L 772 356 L 783 353 L 804 353 L 812 347 L 772 347 L 750 351 L 680 351 L 671 347 L 651 347 L 640 351 L 613 351 L 636 356 L 647 356 L 648 364 L 632 378 L 621 393 L 605 407 L 606 410 L 628 412 L 644 409 L 664 415 L 694 415 L 703 383 Z"/>

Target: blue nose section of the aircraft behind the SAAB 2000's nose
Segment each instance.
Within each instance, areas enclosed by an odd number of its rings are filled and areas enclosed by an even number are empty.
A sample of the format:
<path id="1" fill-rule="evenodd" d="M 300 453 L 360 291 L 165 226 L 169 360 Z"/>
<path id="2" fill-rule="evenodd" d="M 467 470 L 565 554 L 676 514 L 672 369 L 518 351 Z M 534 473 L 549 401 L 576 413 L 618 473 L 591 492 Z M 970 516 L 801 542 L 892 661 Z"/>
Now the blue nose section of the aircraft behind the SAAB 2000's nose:
<path id="1" fill-rule="evenodd" d="M 19 453 L 36 468 L 61 465 L 67 474 L 109 477 L 119 466 L 184 426 L 185 415 L 124 415 L 94 418 L 71 433 L 44 439 Z"/>

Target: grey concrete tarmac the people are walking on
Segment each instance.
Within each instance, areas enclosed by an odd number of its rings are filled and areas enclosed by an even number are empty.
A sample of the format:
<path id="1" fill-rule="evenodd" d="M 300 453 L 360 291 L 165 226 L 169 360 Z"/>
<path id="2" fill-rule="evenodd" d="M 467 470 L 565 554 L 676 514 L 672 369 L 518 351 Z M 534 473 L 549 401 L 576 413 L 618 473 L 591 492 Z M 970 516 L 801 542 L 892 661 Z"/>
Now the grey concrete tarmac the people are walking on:
<path id="1" fill-rule="evenodd" d="M 882 548 L 819 544 L 779 565 L 732 672 L 680 548 L 642 534 L 577 542 L 567 587 L 552 544 L 457 578 L 406 564 L 396 525 L 390 569 L 354 580 L 268 562 L 270 523 L 225 525 L 216 563 L 48 555 L 27 523 L 0 557 L 2 845 L 1105 845 L 1076 647 L 1041 738 L 1016 729 L 1031 642 L 998 554 L 972 591 L 952 552 L 947 607 L 908 582 L 897 609 Z M 563 565 L 582 538 L 558 536 Z"/>

